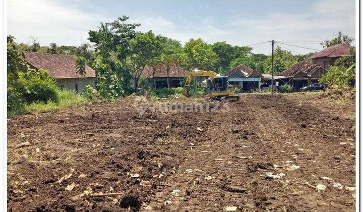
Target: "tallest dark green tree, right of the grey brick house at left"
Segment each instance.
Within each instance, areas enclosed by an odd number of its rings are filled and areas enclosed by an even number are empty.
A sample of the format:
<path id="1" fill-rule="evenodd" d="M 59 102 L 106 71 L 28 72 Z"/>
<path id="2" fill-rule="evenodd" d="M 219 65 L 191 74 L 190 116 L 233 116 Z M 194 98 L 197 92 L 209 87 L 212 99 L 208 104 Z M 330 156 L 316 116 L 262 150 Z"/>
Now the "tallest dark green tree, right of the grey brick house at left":
<path id="1" fill-rule="evenodd" d="M 93 68 L 97 88 L 103 97 L 127 95 L 130 91 L 131 68 L 126 62 L 130 41 L 140 24 L 125 23 L 129 17 L 118 17 L 110 23 L 101 23 L 98 30 L 90 30 L 89 40 L 95 43 Z"/>

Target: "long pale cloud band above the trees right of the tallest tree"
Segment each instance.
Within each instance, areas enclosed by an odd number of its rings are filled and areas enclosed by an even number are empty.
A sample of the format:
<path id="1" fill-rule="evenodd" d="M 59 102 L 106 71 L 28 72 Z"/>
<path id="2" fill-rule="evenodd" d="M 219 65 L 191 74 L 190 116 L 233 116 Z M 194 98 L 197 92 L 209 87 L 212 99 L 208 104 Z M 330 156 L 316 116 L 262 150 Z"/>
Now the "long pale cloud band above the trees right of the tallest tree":
<path id="1" fill-rule="evenodd" d="M 326 7 L 323 7 L 326 6 Z M 178 25 L 162 16 L 138 19 L 143 29 L 152 29 L 182 43 L 190 38 L 201 37 L 208 43 L 227 41 L 233 45 L 248 45 L 268 40 L 277 41 L 314 41 L 306 43 L 290 43 L 308 48 L 321 49 L 319 42 L 333 38 L 338 31 L 355 37 L 354 1 L 346 4 L 336 0 L 317 1 L 308 13 L 285 14 L 274 13 L 263 17 L 230 17 L 223 25 L 220 20 L 203 17 L 193 23 Z M 306 54 L 310 49 L 281 45 L 293 54 Z M 269 43 L 254 46 L 254 52 L 270 54 Z"/>

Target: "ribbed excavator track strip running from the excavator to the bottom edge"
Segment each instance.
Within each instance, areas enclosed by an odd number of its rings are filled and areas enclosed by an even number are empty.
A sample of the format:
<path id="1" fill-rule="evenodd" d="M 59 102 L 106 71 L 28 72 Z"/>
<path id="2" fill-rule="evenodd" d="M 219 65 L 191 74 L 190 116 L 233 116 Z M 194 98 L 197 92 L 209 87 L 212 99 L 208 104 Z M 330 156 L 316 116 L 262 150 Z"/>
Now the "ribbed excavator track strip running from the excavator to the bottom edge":
<path id="1" fill-rule="evenodd" d="M 159 201 L 151 203 L 151 207 L 167 210 L 223 208 L 223 205 L 217 201 L 223 198 L 221 194 L 224 193 L 220 188 L 220 180 L 227 180 L 225 173 L 229 173 L 230 169 L 225 167 L 231 159 L 228 158 L 230 150 L 225 147 L 232 143 L 232 138 L 229 136 L 231 121 L 226 119 L 225 113 L 208 115 L 212 121 L 208 129 L 204 129 L 204 136 L 199 139 L 200 146 L 186 152 L 188 154 L 186 162 L 179 167 L 176 175 L 167 180 L 168 187 L 157 194 L 156 198 Z M 221 137 L 223 134 L 225 136 Z M 238 171 L 239 168 L 233 169 Z M 175 190 L 180 190 L 180 194 L 185 193 L 184 198 L 175 197 L 172 194 Z M 171 204 L 168 205 L 169 203 Z"/>

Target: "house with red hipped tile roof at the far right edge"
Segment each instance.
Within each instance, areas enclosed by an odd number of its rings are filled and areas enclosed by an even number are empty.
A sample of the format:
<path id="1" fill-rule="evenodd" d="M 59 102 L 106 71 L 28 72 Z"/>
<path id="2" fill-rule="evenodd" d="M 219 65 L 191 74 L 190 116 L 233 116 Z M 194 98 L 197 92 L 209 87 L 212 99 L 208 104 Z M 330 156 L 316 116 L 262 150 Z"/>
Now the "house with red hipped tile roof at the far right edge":
<path id="1" fill-rule="evenodd" d="M 338 58 L 349 56 L 349 50 L 351 48 L 354 47 L 345 43 L 336 44 L 319 51 L 317 54 L 310 57 L 310 59 L 312 59 L 313 64 L 328 69 Z"/>

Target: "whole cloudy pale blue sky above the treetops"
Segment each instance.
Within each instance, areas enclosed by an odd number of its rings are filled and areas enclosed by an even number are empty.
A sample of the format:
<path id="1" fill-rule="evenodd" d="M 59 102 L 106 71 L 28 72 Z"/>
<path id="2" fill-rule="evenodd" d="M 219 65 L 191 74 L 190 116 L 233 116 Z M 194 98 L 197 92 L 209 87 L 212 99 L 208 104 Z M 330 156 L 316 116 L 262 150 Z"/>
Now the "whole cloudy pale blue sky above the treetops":
<path id="1" fill-rule="evenodd" d="M 355 37 L 354 0 L 316 1 L 8 1 L 8 34 L 41 45 L 79 45 L 99 22 L 127 15 L 140 31 L 153 30 L 181 41 L 201 37 L 208 43 L 249 45 L 268 40 L 321 49 L 320 41 L 339 30 Z M 253 52 L 270 54 L 269 43 Z M 293 54 L 311 50 L 281 45 Z"/>

